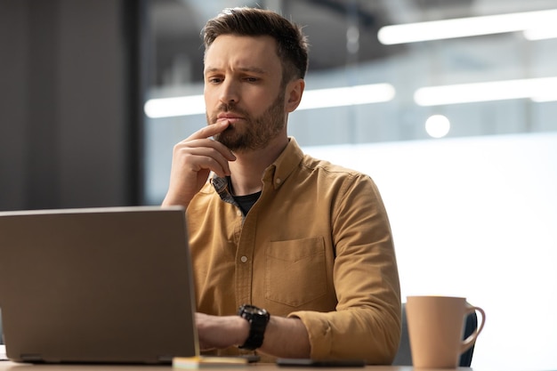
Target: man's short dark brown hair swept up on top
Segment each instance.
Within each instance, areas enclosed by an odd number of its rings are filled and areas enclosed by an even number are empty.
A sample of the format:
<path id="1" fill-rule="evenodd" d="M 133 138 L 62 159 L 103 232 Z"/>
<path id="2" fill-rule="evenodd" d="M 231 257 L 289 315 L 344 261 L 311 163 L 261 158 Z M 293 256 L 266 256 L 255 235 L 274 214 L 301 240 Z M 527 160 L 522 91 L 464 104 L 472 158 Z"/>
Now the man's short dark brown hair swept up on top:
<path id="1" fill-rule="evenodd" d="M 271 36 L 277 41 L 283 84 L 305 77 L 308 70 L 308 41 L 302 28 L 276 12 L 239 7 L 224 9 L 208 20 L 201 32 L 205 50 L 221 35 Z"/>

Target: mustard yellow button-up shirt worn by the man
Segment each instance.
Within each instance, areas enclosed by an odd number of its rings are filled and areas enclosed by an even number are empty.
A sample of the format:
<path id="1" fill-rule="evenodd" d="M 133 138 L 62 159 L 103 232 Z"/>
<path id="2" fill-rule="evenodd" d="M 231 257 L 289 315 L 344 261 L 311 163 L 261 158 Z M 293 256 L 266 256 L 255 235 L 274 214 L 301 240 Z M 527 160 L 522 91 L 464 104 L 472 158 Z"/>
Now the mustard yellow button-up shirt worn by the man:
<path id="1" fill-rule="evenodd" d="M 245 217 L 210 182 L 188 206 L 198 311 L 232 315 L 251 303 L 300 318 L 311 358 L 390 364 L 400 341 L 400 283 L 374 181 L 304 155 L 290 138 L 262 182 Z"/>

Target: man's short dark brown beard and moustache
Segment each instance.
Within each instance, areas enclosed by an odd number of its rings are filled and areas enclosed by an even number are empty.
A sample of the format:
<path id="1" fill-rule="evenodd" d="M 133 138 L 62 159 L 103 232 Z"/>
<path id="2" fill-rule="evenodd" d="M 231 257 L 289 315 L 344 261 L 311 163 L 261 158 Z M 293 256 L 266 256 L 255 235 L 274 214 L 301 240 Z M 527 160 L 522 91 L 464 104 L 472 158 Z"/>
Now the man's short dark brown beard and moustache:
<path id="1" fill-rule="evenodd" d="M 222 104 L 217 113 L 207 117 L 207 124 L 216 123 L 219 112 L 232 112 L 245 118 L 245 122 L 238 126 L 229 125 L 222 133 L 214 135 L 215 141 L 220 141 L 231 151 L 246 149 L 262 149 L 278 136 L 286 125 L 286 112 L 284 110 L 285 94 L 278 93 L 277 98 L 261 116 L 251 117 L 246 111 L 234 105 Z"/>

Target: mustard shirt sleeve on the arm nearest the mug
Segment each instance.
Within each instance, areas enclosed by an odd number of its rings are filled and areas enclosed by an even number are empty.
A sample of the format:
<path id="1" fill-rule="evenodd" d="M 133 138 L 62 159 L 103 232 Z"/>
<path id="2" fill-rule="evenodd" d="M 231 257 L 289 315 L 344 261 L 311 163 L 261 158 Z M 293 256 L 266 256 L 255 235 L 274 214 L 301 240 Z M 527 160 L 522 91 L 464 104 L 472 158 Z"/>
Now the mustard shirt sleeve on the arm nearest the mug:
<path id="1" fill-rule="evenodd" d="M 374 181 L 344 181 L 335 201 L 336 311 L 295 311 L 310 336 L 312 359 L 391 364 L 400 342 L 400 281 L 392 232 Z"/>

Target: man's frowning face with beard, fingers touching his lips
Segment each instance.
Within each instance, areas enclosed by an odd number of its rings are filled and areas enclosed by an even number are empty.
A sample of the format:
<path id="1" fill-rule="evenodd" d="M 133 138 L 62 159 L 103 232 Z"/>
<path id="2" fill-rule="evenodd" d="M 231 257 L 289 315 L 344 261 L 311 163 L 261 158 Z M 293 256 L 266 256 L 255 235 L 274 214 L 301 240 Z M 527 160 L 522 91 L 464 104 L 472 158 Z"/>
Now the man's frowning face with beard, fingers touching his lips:
<path id="1" fill-rule="evenodd" d="M 286 135 L 285 89 L 270 36 L 218 36 L 206 51 L 207 124 L 230 121 L 215 140 L 233 151 L 264 148 Z"/>

